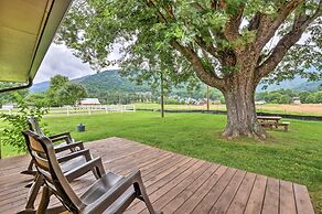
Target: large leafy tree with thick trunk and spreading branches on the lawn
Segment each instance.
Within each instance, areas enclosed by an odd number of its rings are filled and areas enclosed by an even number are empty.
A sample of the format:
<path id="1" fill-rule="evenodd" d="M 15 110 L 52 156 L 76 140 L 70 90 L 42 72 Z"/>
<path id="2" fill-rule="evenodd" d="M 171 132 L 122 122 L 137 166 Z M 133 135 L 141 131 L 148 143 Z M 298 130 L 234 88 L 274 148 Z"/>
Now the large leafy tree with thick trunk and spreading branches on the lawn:
<path id="1" fill-rule="evenodd" d="M 266 138 L 256 86 L 266 77 L 321 77 L 321 0 L 88 0 L 72 7 L 57 41 L 98 67 L 115 44 L 125 68 L 172 60 L 173 76 L 195 75 L 224 94 L 224 136 Z"/>

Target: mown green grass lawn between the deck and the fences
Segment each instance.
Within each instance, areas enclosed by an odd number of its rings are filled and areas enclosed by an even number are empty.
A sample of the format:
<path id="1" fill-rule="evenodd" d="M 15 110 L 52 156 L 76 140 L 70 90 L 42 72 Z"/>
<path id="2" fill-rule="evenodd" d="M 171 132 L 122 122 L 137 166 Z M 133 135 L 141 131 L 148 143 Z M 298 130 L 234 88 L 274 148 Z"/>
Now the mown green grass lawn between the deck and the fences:
<path id="1" fill-rule="evenodd" d="M 266 141 L 221 137 L 225 116 L 207 114 L 126 113 L 47 117 L 54 132 L 72 131 L 84 141 L 116 136 L 190 157 L 304 184 L 322 212 L 322 122 L 291 121 L 290 131 L 269 131 Z M 75 132 L 76 125 L 86 132 Z"/>

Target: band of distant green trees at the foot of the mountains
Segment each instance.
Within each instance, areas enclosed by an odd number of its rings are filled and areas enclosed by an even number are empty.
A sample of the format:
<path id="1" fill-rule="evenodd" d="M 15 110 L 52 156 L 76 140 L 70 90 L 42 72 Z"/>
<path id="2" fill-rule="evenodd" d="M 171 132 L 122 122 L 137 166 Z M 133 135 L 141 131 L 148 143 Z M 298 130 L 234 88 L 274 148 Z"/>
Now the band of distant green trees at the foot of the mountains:
<path id="1" fill-rule="evenodd" d="M 6 84 L 1 84 L 1 87 Z M 208 93 L 208 94 L 207 94 Z M 15 103 L 17 93 L 4 93 L 0 95 L 0 106 L 9 103 Z M 160 103 L 160 89 L 151 87 L 151 92 L 124 92 L 114 88 L 112 90 L 88 88 L 88 84 L 72 83 L 62 75 L 56 75 L 51 78 L 50 88 L 43 93 L 30 93 L 28 89 L 19 90 L 18 94 L 24 97 L 28 105 L 42 107 L 56 107 L 64 105 L 75 105 L 82 98 L 95 97 L 98 98 L 103 105 L 116 104 L 133 104 L 133 103 Z M 167 87 L 164 89 L 165 104 L 183 105 L 185 99 L 192 98 L 195 100 L 205 99 L 210 97 L 211 100 L 219 100 L 225 104 L 223 94 L 215 89 L 201 84 L 197 87 L 189 88 L 182 87 Z M 302 104 L 321 104 L 322 103 L 322 86 L 316 90 L 298 92 L 293 89 L 277 89 L 271 92 L 256 93 L 256 101 L 265 100 L 269 104 L 291 104 L 293 98 L 300 98 Z"/>

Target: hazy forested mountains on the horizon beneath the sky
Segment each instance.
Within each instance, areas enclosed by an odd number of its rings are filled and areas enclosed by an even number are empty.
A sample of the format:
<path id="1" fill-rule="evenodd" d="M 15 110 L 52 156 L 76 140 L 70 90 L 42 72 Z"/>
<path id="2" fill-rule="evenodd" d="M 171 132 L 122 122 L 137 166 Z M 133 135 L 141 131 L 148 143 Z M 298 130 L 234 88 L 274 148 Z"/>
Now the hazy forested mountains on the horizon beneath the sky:
<path id="1" fill-rule="evenodd" d="M 93 75 L 83 76 L 80 78 L 72 79 L 73 83 L 82 84 L 89 94 L 96 92 L 150 92 L 151 88 L 148 85 L 136 85 L 128 78 L 119 75 L 118 69 L 110 69 L 100 72 Z M 258 86 L 257 92 L 262 90 L 276 90 L 280 88 L 294 89 L 294 90 L 314 90 L 319 85 L 322 85 L 322 81 L 307 82 L 304 78 L 296 77 L 292 81 L 283 81 L 279 84 L 269 85 L 266 89 L 262 89 L 262 84 Z M 50 82 L 43 82 L 34 84 L 30 90 L 32 93 L 45 92 L 50 86 Z"/>

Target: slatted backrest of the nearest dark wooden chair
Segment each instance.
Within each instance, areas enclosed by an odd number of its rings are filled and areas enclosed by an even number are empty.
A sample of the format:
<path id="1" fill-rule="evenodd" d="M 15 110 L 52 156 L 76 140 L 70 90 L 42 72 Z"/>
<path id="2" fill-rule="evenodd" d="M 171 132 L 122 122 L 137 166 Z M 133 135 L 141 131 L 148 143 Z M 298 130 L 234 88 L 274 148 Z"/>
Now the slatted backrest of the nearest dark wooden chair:
<path id="1" fill-rule="evenodd" d="M 85 204 L 73 191 L 58 165 L 52 141 L 45 136 L 36 135 L 30 130 L 23 131 L 23 135 L 36 170 L 44 176 L 47 186 L 53 190 L 63 204 L 68 204 L 69 208 L 73 206 L 75 210 L 84 207 Z"/>

